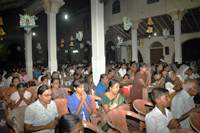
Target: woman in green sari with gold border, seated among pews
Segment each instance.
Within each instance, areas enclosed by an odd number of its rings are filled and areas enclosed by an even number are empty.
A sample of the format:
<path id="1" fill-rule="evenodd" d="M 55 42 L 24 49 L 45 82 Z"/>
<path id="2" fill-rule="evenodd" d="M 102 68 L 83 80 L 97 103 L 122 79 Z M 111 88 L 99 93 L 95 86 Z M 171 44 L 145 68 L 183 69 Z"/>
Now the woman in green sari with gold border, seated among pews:
<path id="1" fill-rule="evenodd" d="M 101 113 L 101 128 L 105 132 L 114 132 L 106 122 L 106 115 L 112 109 L 118 108 L 122 110 L 130 110 L 129 104 L 124 104 L 124 97 L 118 93 L 119 82 L 115 79 L 110 80 L 107 92 L 101 97 L 101 104 L 103 106 Z"/>

